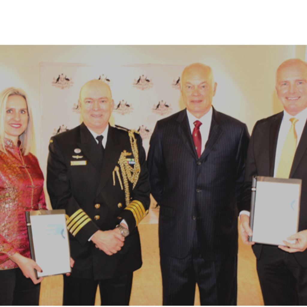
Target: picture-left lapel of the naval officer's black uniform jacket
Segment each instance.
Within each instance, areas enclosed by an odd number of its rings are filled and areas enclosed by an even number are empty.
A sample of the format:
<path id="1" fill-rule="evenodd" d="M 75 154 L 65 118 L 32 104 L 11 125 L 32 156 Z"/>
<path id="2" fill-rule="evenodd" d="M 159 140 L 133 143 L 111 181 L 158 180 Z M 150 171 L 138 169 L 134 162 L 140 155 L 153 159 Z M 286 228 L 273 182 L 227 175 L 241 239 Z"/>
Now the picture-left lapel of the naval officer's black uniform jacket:
<path id="1" fill-rule="evenodd" d="M 82 150 L 87 159 L 95 166 L 96 169 L 98 169 L 99 151 L 95 150 L 95 146 L 97 147 L 97 143 L 94 137 L 92 136 L 91 132 L 84 125 L 84 123 L 80 125 L 80 137 L 81 137 L 81 142 L 77 143 L 77 145 Z"/>

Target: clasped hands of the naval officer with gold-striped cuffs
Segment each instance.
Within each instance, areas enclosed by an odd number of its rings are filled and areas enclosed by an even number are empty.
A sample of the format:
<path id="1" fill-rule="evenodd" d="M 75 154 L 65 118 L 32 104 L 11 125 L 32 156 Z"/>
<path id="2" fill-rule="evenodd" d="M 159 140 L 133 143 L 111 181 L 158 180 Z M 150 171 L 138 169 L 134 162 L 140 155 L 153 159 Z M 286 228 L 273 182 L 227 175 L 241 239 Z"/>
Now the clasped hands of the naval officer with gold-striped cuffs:
<path id="1" fill-rule="evenodd" d="M 121 225 L 126 227 L 124 224 Z M 97 248 L 111 256 L 121 250 L 125 238 L 121 235 L 119 228 L 114 228 L 107 231 L 96 231 L 91 240 Z"/>

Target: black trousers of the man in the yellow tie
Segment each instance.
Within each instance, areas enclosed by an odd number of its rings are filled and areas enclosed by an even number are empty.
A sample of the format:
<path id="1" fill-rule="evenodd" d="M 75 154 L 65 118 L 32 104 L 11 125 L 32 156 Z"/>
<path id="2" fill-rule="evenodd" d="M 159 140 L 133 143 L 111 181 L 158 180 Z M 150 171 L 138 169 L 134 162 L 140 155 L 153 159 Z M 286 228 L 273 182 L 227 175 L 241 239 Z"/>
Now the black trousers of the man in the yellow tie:
<path id="1" fill-rule="evenodd" d="M 265 305 L 307 305 L 307 269 L 293 254 L 263 245 L 257 272 Z"/>

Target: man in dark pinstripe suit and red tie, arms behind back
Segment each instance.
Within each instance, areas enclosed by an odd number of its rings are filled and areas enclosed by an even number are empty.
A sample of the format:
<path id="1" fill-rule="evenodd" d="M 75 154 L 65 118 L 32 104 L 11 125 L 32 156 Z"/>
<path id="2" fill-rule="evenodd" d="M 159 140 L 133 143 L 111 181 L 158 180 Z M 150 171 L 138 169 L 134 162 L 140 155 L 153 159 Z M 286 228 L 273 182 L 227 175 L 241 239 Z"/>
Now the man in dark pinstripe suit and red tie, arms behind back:
<path id="1" fill-rule="evenodd" d="M 163 305 L 236 305 L 237 200 L 244 182 L 247 127 L 212 107 L 210 67 L 181 77 L 186 109 L 157 122 L 147 165 L 160 204 Z M 239 202 L 238 202 L 239 203 Z"/>

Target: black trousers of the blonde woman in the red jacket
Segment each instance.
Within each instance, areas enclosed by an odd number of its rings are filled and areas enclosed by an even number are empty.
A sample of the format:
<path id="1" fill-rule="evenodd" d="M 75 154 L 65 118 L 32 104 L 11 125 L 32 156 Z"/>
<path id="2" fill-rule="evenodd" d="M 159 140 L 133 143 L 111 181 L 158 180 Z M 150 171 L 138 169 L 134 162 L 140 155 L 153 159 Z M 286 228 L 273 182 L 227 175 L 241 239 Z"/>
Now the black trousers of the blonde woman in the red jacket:
<path id="1" fill-rule="evenodd" d="M 19 268 L 0 270 L 0 305 L 38 306 L 41 284 L 34 285 Z"/>

